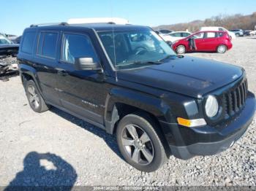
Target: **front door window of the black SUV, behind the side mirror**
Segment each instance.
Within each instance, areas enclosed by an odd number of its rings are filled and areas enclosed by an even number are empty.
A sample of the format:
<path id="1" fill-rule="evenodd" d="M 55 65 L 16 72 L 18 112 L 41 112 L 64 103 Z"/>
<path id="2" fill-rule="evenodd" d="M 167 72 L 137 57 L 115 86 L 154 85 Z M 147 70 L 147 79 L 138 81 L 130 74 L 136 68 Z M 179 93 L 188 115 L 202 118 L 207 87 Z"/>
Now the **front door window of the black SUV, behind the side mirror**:
<path id="1" fill-rule="evenodd" d="M 61 61 L 75 63 L 75 58 L 93 58 L 98 61 L 94 47 L 88 36 L 82 34 L 64 34 Z"/>

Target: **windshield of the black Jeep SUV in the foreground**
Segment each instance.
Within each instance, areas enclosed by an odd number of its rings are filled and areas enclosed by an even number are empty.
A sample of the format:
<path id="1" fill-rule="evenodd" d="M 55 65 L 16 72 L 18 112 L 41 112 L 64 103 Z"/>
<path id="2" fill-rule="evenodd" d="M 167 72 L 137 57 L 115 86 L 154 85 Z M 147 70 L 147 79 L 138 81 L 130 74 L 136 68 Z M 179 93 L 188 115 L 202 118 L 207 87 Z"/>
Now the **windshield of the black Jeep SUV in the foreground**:
<path id="1" fill-rule="evenodd" d="M 110 60 L 118 69 L 148 66 L 176 55 L 162 38 L 149 29 L 98 34 Z"/>

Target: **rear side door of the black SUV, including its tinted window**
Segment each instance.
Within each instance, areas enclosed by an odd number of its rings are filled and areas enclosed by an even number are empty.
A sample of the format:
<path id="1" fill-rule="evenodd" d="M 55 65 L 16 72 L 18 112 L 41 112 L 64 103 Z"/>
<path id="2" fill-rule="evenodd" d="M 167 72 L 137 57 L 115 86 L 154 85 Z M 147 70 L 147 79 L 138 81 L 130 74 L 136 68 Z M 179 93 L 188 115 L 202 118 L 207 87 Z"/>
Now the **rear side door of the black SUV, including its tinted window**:
<path id="1" fill-rule="evenodd" d="M 39 31 L 36 59 L 34 67 L 37 69 L 39 85 L 45 101 L 59 105 L 59 94 L 56 90 L 57 44 L 59 31 Z"/>

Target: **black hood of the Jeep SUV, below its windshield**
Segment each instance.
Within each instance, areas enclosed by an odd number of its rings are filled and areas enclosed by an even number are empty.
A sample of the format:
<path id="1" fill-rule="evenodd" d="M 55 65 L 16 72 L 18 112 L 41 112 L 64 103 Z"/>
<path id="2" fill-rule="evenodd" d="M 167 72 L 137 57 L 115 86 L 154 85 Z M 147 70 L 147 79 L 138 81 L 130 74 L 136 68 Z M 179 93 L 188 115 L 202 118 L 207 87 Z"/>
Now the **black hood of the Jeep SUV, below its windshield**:
<path id="1" fill-rule="evenodd" d="M 244 69 L 238 66 L 187 56 L 140 69 L 120 70 L 118 79 L 200 98 L 243 73 Z"/>

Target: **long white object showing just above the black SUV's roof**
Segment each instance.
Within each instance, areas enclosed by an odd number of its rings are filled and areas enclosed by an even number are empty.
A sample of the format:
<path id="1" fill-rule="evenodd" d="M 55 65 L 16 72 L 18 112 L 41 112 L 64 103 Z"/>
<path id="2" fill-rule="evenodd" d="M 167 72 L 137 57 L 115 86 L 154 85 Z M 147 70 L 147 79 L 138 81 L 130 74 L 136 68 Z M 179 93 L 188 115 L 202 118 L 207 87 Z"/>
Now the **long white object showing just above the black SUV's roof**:
<path id="1" fill-rule="evenodd" d="M 119 25 L 129 24 L 129 20 L 118 17 L 96 17 L 96 18 L 70 18 L 69 24 L 90 24 L 90 23 L 115 23 Z"/>

